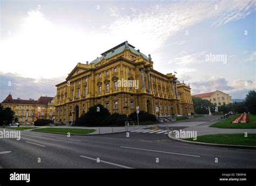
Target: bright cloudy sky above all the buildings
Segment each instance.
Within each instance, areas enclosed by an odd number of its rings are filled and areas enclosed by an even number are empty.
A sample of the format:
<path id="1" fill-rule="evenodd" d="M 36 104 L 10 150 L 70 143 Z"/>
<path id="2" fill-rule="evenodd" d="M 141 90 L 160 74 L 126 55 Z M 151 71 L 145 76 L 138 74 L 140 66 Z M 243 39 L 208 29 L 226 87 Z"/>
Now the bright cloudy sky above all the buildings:
<path id="1" fill-rule="evenodd" d="M 256 89 L 256 2 L 0 0 L 0 101 L 55 96 L 77 63 L 127 40 L 192 94 Z"/>

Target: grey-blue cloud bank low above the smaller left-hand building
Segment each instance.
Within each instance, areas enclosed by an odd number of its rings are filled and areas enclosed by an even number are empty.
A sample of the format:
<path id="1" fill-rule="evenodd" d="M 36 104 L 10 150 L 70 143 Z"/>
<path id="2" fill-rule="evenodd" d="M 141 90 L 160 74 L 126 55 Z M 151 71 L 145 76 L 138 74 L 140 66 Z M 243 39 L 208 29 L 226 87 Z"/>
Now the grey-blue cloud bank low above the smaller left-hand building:
<path id="1" fill-rule="evenodd" d="M 55 97 L 56 87 L 65 77 L 55 79 L 24 78 L 19 74 L 0 72 L 0 102 L 11 92 L 14 99 L 35 99 L 41 95 Z"/>

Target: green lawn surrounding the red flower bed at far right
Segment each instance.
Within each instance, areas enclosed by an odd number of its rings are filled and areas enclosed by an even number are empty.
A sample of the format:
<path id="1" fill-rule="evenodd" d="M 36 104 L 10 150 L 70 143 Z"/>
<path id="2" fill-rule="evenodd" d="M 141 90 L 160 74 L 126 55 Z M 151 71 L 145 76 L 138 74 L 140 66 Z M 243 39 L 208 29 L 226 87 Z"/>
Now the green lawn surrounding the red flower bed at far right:
<path id="1" fill-rule="evenodd" d="M 256 115 L 249 115 L 249 122 L 248 123 L 233 123 L 230 122 L 235 119 L 239 114 L 235 114 L 230 116 L 227 119 L 224 119 L 218 123 L 214 123 L 210 127 L 217 127 L 217 128 L 256 128 Z"/>

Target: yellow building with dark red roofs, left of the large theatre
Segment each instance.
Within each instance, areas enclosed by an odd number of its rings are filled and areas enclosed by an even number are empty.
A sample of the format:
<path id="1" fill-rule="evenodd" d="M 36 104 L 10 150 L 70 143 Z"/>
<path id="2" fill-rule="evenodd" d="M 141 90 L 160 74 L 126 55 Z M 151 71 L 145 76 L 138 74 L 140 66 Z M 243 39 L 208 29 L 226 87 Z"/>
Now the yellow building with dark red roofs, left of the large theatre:
<path id="1" fill-rule="evenodd" d="M 12 99 L 12 95 L 4 99 L 1 105 L 14 111 L 14 118 L 20 123 L 32 123 L 37 119 L 55 119 L 55 98 L 40 97 L 38 100 Z"/>

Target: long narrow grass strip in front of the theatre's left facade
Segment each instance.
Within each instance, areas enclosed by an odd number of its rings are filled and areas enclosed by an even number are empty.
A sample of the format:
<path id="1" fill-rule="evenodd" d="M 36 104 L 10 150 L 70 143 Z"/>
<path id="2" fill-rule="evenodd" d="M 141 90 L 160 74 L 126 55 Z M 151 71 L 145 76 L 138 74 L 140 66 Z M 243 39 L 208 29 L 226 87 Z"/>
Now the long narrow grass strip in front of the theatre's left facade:
<path id="1" fill-rule="evenodd" d="M 95 132 L 95 129 L 80 129 L 80 128 L 38 128 L 32 131 L 70 133 L 70 134 L 89 134 Z"/>

